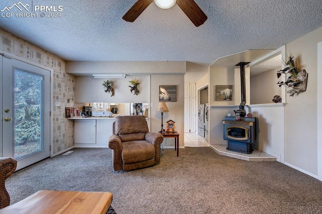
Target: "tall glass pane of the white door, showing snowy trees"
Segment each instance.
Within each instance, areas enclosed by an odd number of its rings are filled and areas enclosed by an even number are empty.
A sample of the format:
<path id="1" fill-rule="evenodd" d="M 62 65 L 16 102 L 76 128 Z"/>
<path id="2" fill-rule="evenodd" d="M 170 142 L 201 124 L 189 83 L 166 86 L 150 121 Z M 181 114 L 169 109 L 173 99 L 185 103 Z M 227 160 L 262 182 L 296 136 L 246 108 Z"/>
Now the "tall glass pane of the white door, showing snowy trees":
<path id="1" fill-rule="evenodd" d="M 42 76 L 15 69 L 14 75 L 14 157 L 21 159 L 41 152 Z"/>

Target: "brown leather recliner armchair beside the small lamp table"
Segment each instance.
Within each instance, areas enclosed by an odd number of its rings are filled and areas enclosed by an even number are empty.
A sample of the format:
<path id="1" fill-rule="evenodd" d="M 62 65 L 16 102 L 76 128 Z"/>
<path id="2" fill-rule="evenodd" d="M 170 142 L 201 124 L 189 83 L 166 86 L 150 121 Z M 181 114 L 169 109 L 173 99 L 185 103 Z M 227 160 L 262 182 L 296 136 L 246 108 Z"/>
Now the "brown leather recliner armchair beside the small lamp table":
<path id="1" fill-rule="evenodd" d="M 109 148 L 114 171 L 150 167 L 160 162 L 163 135 L 149 132 L 144 116 L 119 116 L 113 123 Z"/>

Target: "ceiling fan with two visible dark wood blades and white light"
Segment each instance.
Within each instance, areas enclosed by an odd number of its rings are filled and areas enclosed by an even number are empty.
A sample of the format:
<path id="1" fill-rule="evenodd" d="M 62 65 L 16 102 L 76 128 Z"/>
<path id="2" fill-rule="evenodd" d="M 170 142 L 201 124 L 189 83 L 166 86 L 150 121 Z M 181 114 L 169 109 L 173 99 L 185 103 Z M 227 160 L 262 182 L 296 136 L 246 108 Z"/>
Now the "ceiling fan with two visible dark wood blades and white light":
<path id="1" fill-rule="evenodd" d="M 132 8 L 123 16 L 123 19 L 127 22 L 134 22 L 135 19 L 152 3 L 162 9 L 168 9 L 174 6 L 176 3 L 181 10 L 187 15 L 191 22 L 196 26 L 202 25 L 206 20 L 206 14 L 199 8 L 194 0 L 138 0 Z M 163 3 L 168 3 L 163 5 Z"/>

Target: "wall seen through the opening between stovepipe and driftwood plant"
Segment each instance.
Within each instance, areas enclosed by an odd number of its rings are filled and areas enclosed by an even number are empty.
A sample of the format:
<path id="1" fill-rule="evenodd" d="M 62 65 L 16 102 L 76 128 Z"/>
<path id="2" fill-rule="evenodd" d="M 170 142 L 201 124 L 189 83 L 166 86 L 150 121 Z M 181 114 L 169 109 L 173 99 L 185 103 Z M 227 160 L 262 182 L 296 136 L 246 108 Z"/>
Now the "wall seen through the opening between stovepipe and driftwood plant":
<path id="1" fill-rule="evenodd" d="M 265 73 L 251 77 L 251 104 L 274 103 L 275 95 L 282 96 L 280 87 L 276 84 L 277 69 L 268 70 Z"/>

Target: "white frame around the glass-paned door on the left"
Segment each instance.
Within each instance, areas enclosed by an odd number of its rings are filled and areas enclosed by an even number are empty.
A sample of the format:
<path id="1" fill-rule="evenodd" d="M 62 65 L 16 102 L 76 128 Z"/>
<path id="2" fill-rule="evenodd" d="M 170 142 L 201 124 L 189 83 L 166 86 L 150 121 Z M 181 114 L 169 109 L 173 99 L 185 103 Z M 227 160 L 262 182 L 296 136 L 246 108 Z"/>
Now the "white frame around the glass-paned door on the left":
<path id="1" fill-rule="evenodd" d="M 33 66 L 36 66 L 36 67 L 39 67 L 39 68 L 42 68 L 42 69 L 45 69 L 45 70 L 49 70 L 49 72 L 50 72 L 50 104 L 49 104 L 49 106 L 50 106 L 50 133 L 49 133 L 49 138 L 50 138 L 50 143 L 49 143 L 49 151 L 50 151 L 50 157 L 53 157 L 53 110 L 54 110 L 54 106 L 53 106 L 53 91 L 54 91 L 54 87 L 53 87 L 53 77 L 54 77 L 54 70 L 52 69 L 52 68 L 50 68 L 50 67 L 46 67 L 46 66 L 44 66 L 44 65 L 41 65 L 41 64 L 38 64 L 38 63 L 36 63 L 36 62 L 33 62 L 33 61 L 30 61 L 30 60 L 28 60 L 28 59 L 24 59 L 24 58 L 22 58 L 22 57 L 19 57 L 19 56 L 16 56 L 16 55 L 13 55 L 13 54 L 11 54 L 11 53 L 8 53 L 8 52 L 6 52 L 6 51 L 0 51 L 0 55 L 3 55 L 4 57 L 9 57 L 9 58 L 13 58 L 13 59 L 16 59 L 16 60 L 19 60 L 19 61 L 22 61 L 22 62 L 25 62 L 25 63 L 27 63 L 27 64 L 31 64 L 31 65 L 33 65 Z M 1 66 L 1 69 L 2 69 L 2 67 L 3 67 L 3 62 L 2 62 L 2 57 L 0 57 L 1 59 L 0 59 L 0 66 Z M 2 73 L 1 73 L 2 74 Z M 1 81 L 1 83 L 2 83 L 2 79 L 3 77 L 2 77 L 2 75 L 0 75 L 0 81 Z M 3 94 L 3 91 L 2 91 L 2 88 L 0 88 L 0 102 L 1 102 L 1 106 L 2 106 L 2 104 L 3 104 L 3 96 L 2 96 L 2 94 Z M 0 118 L 3 118 L 3 109 L 1 109 L 1 111 L 0 111 Z M 2 122 L 0 123 L 0 130 L 2 130 Z M 0 148 L 0 152 L 1 152 L 1 154 L 3 154 L 3 151 L 2 151 L 2 144 L 3 144 L 3 142 L 2 142 L 2 137 L 0 138 L 0 146 L 1 146 L 1 148 Z"/>

